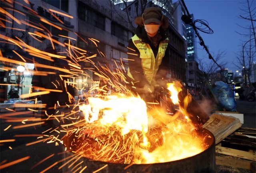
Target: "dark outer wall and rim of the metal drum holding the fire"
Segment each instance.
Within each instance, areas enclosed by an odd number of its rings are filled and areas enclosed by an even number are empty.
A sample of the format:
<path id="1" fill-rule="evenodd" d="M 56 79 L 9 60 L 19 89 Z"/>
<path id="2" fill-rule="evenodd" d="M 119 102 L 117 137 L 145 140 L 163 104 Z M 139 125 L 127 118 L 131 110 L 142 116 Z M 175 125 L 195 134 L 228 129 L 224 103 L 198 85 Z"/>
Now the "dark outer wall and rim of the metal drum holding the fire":
<path id="1" fill-rule="evenodd" d="M 194 155 L 192 157 L 187 157 L 184 159 L 164 162 L 164 163 L 151 163 L 151 164 L 120 164 L 120 163 L 110 163 L 102 161 L 94 161 L 86 157 L 82 157 L 80 161 L 83 161 L 81 164 L 84 172 L 93 172 L 102 167 L 100 173 L 214 173 L 216 172 L 216 163 L 215 163 L 215 138 L 213 134 L 207 129 L 200 129 L 199 133 L 202 136 L 209 136 L 205 139 L 205 143 L 208 146 L 207 149 Z M 66 140 L 65 142 L 72 141 Z M 64 157 L 68 157 L 74 153 L 66 152 Z M 79 163 L 78 161 L 77 163 Z M 71 164 L 72 162 L 70 162 Z M 76 164 L 75 164 L 76 165 Z M 106 166 L 107 165 L 107 166 Z M 68 166 L 68 165 L 67 165 Z M 81 170 L 80 169 L 80 170 Z M 80 171 L 78 170 L 78 172 Z M 67 167 L 62 168 L 63 172 L 70 172 Z"/>

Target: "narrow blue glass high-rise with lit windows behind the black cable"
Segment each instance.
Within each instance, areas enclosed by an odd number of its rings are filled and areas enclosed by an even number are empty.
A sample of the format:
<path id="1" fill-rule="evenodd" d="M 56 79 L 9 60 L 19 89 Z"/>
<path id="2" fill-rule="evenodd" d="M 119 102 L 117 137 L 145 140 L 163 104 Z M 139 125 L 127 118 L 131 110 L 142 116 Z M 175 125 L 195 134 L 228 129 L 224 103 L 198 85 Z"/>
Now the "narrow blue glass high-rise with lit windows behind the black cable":
<path id="1" fill-rule="evenodd" d="M 190 14 L 192 21 L 194 22 L 194 15 Z M 197 50 L 196 50 L 196 33 L 191 25 L 186 24 L 187 29 L 187 61 L 196 61 Z"/>

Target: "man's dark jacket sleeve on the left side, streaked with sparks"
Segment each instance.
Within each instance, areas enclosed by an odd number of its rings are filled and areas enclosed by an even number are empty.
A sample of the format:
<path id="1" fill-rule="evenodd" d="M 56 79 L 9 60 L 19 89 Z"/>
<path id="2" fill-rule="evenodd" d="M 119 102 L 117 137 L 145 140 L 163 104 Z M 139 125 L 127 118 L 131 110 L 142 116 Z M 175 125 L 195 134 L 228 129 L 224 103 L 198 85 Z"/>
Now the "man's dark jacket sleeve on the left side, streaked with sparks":
<path id="1" fill-rule="evenodd" d="M 149 84 L 146 77 L 144 76 L 141 59 L 140 59 L 140 52 L 137 47 L 134 45 L 132 39 L 129 40 L 128 43 L 128 66 L 130 69 L 130 73 L 134 78 L 133 82 L 137 82 L 136 86 L 142 88 L 144 85 Z"/>

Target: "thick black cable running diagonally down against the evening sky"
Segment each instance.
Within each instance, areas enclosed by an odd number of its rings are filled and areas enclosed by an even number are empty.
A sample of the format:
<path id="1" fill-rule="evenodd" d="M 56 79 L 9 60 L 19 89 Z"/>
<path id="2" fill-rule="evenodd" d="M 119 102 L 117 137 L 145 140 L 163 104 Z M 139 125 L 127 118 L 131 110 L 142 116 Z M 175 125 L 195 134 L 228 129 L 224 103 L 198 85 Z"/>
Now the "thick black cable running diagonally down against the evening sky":
<path id="1" fill-rule="evenodd" d="M 203 40 L 202 37 L 199 35 L 199 33 L 198 33 L 198 31 L 197 31 L 197 28 L 196 28 L 196 26 L 194 25 L 194 22 L 192 22 L 190 13 L 188 12 L 188 8 L 186 7 L 186 4 L 185 4 L 184 0 L 181 0 L 181 2 L 182 2 L 183 6 L 184 6 L 184 8 L 185 8 L 185 10 L 186 10 L 186 13 L 187 13 L 187 16 L 184 16 L 184 15 L 182 16 L 182 20 L 183 20 L 186 24 L 190 24 L 190 25 L 192 26 L 192 28 L 194 29 L 194 31 L 195 31 L 195 33 L 196 33 L 198 39 L 200 40 L 200 45 L 202 45 L 202 46 L 204 47 L 204 49 L 206 50 L 206 52 L 208 53 L 209 59 L 212 59 L 212 61 L 213 61 L 216 65 L 218 65 L 218 67 L 220 67 L 220 71 L 221 71 L 222 67 L 221 67 L 221 66 L 215 61 L 215 59 L 212 57 L 212 55 L 211 55 L 211 53 L 210 53 L 208 47 L 204 44 L 204 40 Z M 207 24 L 207 26 L 208 26 L 208 24 Z"/>

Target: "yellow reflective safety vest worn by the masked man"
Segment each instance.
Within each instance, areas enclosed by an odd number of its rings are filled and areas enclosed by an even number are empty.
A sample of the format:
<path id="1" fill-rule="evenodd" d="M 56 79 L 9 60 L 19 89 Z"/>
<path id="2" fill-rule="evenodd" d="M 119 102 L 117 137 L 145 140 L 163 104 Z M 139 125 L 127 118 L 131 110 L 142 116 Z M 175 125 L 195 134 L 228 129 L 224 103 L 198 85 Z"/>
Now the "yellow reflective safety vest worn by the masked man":
<path id="1" fill-rule="evenodd" d="M 166 38 L 160 41 L 156 58 L 148 43 L 142 42 L 141 41 L 142 39 L 140 39 L 137 35 L 134 35 L 131 39 L 134 45 L 140 51 L 141 65 L 142 65 L 144 76 L 146 77 L 147 81 L 151 83 L 154 77 L 156 76 L 158 68 L 162 62 L 162 59 L 164 57 L 165 51 L 168 46 L 169 39 Z M 129 68 L 128 68 L 127 75 L 130 78 L 134 79 L 132 77 L 132 74 L 130 73 Z"/>

